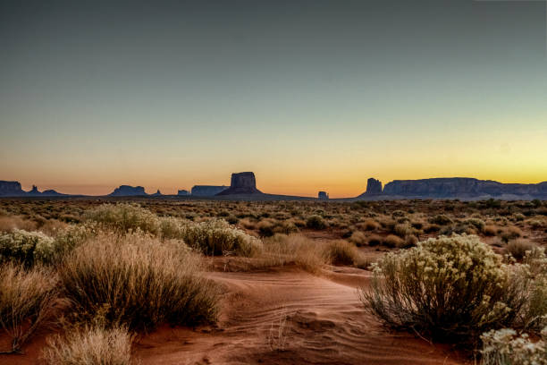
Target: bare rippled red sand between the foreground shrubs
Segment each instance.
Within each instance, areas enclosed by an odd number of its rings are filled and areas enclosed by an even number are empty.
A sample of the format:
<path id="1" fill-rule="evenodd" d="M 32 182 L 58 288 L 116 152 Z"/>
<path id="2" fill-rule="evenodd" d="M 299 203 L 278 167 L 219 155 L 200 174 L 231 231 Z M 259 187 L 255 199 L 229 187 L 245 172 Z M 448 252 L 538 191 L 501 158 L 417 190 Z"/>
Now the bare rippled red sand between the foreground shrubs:
<path id="1" fill-rule="evenodd" d="M 366 271 L 331 267 L 312 276 L 296 267 L 259 272 L 213 272 L 223 284 L 216 327 L 160 327 L 133 346 L 142 365 L 179 364 L 464 364 L 448 345 L 394 333 L 366 314 L 357 286 Z M 46 334 L 26 354 L 0 364 L 39 363 Z"/>

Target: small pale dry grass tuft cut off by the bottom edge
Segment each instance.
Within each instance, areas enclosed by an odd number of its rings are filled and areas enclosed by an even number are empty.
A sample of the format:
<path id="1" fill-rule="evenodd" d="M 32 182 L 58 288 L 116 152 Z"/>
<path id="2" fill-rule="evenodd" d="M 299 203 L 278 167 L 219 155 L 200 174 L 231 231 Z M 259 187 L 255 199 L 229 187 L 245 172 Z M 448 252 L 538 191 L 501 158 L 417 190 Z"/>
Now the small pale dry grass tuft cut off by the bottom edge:
<path id="1" fill-rule="evenodd" d="M 132 335 L 125 327 L 83 327 L 48 338 L 48 365 L 130 365 Z"/>

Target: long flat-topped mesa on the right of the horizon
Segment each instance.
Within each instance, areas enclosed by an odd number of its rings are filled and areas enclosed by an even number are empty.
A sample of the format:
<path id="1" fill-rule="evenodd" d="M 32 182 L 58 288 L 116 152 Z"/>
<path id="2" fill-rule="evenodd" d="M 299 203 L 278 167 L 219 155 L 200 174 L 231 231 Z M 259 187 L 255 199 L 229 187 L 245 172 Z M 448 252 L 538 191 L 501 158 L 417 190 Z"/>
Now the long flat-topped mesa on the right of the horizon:
<path id="1" fill-rule="evenodd" d="M 467 177 L 395 180 L 383 188 L 383 195 L 418 198 L 473 198 L 481 196 L 547 197 L 547 182 L 498 183 Z"/>

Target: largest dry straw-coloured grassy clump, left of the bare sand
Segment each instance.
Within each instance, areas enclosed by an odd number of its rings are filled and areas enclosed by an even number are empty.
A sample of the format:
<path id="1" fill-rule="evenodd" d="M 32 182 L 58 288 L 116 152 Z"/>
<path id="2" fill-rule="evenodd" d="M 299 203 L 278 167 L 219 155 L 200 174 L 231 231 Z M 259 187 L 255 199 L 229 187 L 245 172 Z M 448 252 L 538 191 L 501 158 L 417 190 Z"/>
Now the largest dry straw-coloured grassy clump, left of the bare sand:
<path id="1" fill-rule="evenodd" d="M 79 317 L 102 313 L 110 325 L 149 329 L 215 320 L 216 288 L 198 270 L 181 242 L 109 233 L 73 250 L 59 275 Z"/>

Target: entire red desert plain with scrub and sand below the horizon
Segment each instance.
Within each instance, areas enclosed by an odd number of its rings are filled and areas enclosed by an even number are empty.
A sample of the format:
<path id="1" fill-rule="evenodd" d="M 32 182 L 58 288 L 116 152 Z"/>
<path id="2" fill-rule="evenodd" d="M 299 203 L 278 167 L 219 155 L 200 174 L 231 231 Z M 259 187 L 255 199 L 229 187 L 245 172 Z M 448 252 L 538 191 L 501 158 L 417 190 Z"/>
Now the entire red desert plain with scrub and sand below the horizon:
<path id="1" fill-rule="evenodd" d="M 538 200 L 1 199 L 0 362 L 545 364 L 545 247 Z"/>

